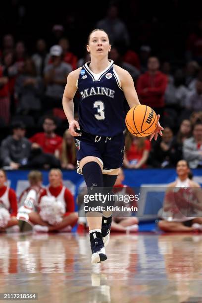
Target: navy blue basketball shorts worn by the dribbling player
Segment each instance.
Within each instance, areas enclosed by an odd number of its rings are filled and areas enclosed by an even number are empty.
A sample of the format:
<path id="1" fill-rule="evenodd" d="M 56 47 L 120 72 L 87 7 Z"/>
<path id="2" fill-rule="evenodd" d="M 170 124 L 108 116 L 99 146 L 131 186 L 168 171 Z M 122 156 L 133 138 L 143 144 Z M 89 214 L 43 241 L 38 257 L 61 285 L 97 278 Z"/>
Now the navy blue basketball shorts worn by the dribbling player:
<path id="1" fill-rule="evenodd" d="M 105 137 L 82 132 L 82 136 L 74 137 L 74 140 L 79 174 L 82 174 L 79 163 L 86 156 L 95 156 L 102 164 L 102 172 L 111 172 L 123 164 L 125 146 L 123 133 Z"/>

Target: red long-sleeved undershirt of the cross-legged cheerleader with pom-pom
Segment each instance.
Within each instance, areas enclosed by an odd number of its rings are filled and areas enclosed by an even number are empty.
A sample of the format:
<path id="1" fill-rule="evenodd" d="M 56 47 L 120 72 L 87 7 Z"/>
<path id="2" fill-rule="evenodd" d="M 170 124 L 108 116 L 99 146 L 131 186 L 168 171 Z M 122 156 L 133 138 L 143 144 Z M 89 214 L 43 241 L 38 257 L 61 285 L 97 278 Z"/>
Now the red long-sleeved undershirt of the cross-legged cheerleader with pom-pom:
<path id="1" fill-rule="evenodd" d="M 59 193 L 61 192 L 62 187 L 63 187 L 62 185 L 60 185 L 58 187 L 50 186 L 49 187 L 50 194 L 54 197 L 57 197 L 59 195 Z M 46 195 L 47 195 L 47 190 L 45 188 L 39 197 L 39 203 L 41 201 L 41 198 Z M 74 208 L 75 208 L 74 207 L 74 198 L 73 198 L 71 192 L 67 188 L 65 188 L 65 191 L 64 191 L 64 200 L 66 202 L 66 212 L 68 212 L 68 213 L 73 212 Z"/>

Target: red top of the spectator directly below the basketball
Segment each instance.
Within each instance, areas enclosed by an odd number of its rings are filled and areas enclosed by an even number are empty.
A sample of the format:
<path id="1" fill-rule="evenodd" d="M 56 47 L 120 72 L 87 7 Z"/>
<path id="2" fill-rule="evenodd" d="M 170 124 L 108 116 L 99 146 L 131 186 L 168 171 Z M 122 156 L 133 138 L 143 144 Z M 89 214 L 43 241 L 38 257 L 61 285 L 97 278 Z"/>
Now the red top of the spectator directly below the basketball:
<path id="1" fill-rule="evenodd" d="M 128 151 L 126 151 L 126 157 L 128 161 L 137 160 L 137 162 L 142 159 L 144 151 L 151 150 L 151 143 L 149 140 L 145 140 L 144 147 L 142 149 L 138 149 L 137 144 L 132 142 L 131 147 Z M 143 164 L 142 168 L 147 167 L 146 164 Z"/>

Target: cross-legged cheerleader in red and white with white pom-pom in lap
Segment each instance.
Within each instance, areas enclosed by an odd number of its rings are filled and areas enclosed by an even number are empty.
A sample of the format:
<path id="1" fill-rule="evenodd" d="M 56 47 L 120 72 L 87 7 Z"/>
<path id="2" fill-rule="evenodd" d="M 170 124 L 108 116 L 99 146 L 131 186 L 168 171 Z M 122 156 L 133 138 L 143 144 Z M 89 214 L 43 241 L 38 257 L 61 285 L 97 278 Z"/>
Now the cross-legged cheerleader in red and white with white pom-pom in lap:
<path id="1" fill-rule="evenodd" d="M 36 232 L 71 231 L 78 215 L 74 211 L 71 192 L 62 185 L 62 172 L 51 169 L 49 182 L 50 185 L 40 195 L 38 211 L 32 211 L 29 220 L 35 224 Z"/>

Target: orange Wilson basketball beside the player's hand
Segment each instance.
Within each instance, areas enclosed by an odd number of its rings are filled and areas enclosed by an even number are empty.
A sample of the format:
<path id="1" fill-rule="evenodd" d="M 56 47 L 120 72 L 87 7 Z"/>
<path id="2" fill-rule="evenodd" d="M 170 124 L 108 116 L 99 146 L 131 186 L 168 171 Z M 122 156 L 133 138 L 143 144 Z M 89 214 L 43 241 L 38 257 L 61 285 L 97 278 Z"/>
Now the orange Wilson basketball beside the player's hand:
<path id="1" fill-rule="evenodd" d="M 147 105 L 133 106 L 126 115 L 126 126 L 137 137 L 150 136 L 157 126 L 155 111 Z"/>

